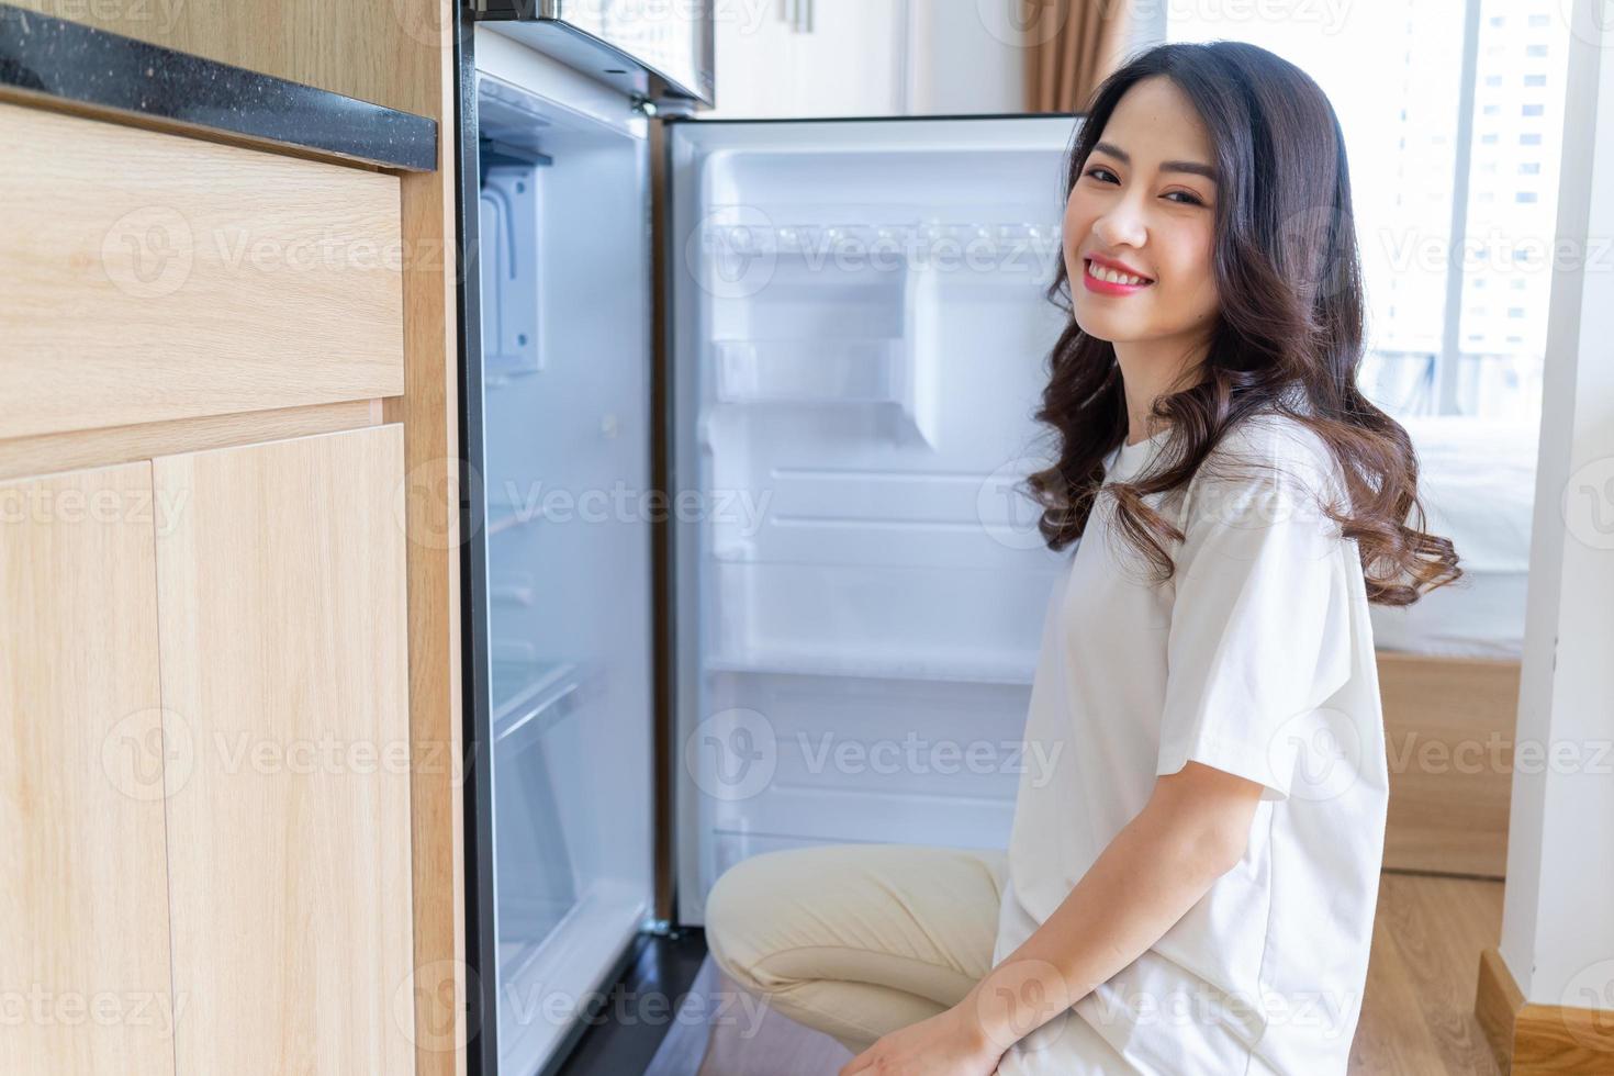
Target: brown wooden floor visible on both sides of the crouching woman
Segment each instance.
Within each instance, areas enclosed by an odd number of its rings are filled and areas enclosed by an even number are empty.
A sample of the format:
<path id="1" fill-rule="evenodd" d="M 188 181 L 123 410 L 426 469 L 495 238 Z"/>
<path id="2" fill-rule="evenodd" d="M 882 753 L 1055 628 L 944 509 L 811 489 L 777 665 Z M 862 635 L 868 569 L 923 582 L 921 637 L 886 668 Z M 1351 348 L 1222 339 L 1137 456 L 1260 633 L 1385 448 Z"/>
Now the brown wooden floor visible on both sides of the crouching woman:
<path id="1" fill-rule="evenodd" d="M 1474 1021 L 1474 984 L 1501 921 L 1501 882 L 1382 876 L 1353 1076 L 1499 1076 Z M 697 989 L 702 982 L 726 986 L 710 958 Z M 763 1013 L 760 1024 L 715 1028 L 699 1076 L 833 1076 L 851 1058 L 834 1039 Z M 660 1058 L 650 1071 L 692 1071 L 694 1057 L 686 1058 Z"/>

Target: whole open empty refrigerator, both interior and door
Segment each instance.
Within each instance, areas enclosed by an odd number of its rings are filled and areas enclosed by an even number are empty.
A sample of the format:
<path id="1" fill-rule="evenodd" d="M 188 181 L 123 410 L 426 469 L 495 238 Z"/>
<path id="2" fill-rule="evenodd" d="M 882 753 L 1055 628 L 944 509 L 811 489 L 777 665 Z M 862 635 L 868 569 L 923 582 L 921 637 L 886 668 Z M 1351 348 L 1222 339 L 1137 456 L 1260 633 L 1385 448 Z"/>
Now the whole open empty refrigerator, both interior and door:
<path id="1" fill-rule="evenodd" d="M 747 855 L 1007 844 L 1080 118 L 460 63 L 470 1055 L 526 1076 Z"/>

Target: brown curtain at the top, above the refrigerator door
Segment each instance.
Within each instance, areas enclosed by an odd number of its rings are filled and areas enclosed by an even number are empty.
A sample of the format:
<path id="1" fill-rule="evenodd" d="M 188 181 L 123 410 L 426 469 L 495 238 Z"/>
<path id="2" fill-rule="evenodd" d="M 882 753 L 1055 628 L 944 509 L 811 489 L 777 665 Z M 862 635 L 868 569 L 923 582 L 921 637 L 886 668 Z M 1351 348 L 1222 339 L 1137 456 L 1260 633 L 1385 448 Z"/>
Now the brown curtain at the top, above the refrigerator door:
<path id="1" fill-rule="evenodd" d="M 1027 42 L 1027 111 L 1081 111 L 1125 58 L 1133 0 L 1006 0 Z"/>

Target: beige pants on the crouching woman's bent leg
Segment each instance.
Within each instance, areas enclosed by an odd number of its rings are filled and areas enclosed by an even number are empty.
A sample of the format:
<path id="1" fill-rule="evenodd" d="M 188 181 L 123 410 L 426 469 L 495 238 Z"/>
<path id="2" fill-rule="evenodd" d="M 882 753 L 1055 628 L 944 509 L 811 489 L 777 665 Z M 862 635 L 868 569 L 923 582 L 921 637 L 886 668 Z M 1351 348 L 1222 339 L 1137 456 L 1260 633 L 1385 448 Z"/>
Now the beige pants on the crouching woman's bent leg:
<path id="1" fill-rule="evenodd" d="M 854 1053 L 951 1008 L 993 968 L 1007 853 L 841 844 L 741 860 L 712 887 L 712 960 Z"/>

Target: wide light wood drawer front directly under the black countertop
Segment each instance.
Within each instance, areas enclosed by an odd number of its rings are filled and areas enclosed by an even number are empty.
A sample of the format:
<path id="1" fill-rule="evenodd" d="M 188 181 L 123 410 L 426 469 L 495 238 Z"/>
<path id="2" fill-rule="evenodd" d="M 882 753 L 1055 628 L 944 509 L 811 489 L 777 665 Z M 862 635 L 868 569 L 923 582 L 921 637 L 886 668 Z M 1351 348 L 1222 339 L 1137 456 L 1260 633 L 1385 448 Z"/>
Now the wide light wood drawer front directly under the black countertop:
<path id="1" fill-rule="evenodd" d="M 397 176 L 5 103 L 0 145 L 0 439 L 404 390 Z"/>

